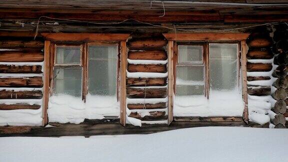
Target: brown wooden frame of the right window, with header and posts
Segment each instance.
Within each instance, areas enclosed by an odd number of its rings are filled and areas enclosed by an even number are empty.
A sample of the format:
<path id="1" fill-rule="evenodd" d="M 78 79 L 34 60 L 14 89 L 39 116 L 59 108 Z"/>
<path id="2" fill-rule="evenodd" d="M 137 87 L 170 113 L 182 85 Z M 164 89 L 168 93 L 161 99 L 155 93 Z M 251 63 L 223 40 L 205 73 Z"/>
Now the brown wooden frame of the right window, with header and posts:
<path id="1" fill-rule="evenodd" d="M 177 59 L 177 41 L 211 41 L 213 43 L 224 42 L 238 42 L 238 67 L 241 70 L 242 77 L 242 99 L 244 101 L 243 120 L 248 123 L 248 99 L 247 99 L 247 76 L 246 76 L 246 39 L 249 33 L 215 33 L 215 32 L 201 32 L 201 33 L 163 33 L 164 37 L 168 40 L 168 124 L 173 120 L 173 95 L 175 93 L 175 63 Z M 207 44 L 207 43 L 206 43 Z M 206 64 L 209 65 L 209 46 L 204 46 Z M 240 73 L 240 72 L 238 72 Z M 209 66 L 205 70 L 205 75 L 209 75 Z M 209 78 L 206 76 L 206 78 Z M 240 75 L 238 74 L 240 79 Z M 205 79 L 206 80 L 206 79 Z M 207 79 L 205 86 L 209 88 L 209 79 Z M 209 90 L 209 89 L 208 89 Z M 208 90 L 206 91 L 207 98 L 209 98 Z"/>

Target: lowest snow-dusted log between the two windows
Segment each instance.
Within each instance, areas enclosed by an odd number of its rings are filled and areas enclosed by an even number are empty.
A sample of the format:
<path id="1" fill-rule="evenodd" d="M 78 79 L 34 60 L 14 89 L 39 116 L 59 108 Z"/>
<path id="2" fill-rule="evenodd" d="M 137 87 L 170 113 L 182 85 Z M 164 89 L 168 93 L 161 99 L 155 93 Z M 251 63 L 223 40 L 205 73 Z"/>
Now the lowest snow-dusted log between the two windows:
<path id="1" fill-rule="evenodd" d="M 165 111 L 149 111 L 150 115 L 145 115 L 141 117 L 138 112 L 131 112 L 129 117 L 138 118 L 143 121 L 152 121 L 152 120 L 165 120 L 167 115 Z"/>

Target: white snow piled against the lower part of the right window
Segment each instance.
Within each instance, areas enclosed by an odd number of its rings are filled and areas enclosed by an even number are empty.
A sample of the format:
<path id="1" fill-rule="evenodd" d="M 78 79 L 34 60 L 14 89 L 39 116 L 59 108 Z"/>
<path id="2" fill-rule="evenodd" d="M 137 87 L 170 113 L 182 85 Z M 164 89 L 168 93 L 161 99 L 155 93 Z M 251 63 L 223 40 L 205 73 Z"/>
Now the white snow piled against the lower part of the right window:
<path id="1" fill-rule="evenodd" d="M 174 116 L 242 116 L 244 102 L 241 94 L 213 92 L 206 99 L 203 95 L 175 96 Z"/>

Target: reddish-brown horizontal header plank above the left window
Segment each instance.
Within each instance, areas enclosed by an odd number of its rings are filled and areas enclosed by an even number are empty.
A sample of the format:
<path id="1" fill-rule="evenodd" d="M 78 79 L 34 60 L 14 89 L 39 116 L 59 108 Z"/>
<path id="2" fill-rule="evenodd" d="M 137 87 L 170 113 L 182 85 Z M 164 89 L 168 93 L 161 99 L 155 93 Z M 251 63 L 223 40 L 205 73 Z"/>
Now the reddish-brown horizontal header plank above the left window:
<path id="1" fill-rule="evenodd" d="M 126 41 L 125 33 L 41 33 L 46 40 L 62 41 Z"/>

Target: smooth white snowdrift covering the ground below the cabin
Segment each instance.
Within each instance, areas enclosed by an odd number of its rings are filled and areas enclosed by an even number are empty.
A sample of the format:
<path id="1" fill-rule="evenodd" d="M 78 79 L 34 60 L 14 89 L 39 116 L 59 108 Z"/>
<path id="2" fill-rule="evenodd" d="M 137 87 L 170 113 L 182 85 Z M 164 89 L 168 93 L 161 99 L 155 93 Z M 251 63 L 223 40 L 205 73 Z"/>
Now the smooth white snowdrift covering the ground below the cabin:
<path id="1" fill-rule="evenodd" d="M 0 137 L 0 161 L 288 161 L 288 129 L 195 127 L 146 135 Z"/>

